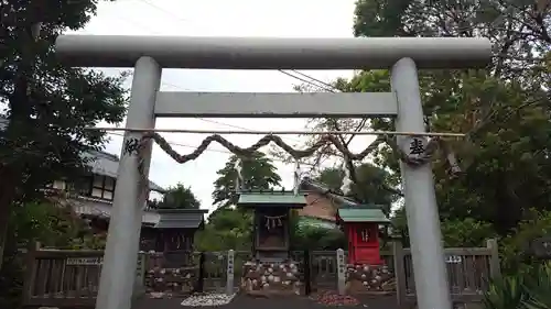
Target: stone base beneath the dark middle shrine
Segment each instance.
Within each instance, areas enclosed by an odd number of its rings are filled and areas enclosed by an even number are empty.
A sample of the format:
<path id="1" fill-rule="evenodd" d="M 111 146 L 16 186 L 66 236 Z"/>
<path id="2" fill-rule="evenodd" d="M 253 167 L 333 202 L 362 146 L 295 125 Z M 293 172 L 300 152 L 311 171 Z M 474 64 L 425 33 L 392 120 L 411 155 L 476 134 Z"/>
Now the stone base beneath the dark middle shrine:
<path id="1" fill-rule="evenodd" d="M 244 265 L 241 291 L 256 297 L 300 295 L 298 263 L 260 263 L 249 261 Z"/>

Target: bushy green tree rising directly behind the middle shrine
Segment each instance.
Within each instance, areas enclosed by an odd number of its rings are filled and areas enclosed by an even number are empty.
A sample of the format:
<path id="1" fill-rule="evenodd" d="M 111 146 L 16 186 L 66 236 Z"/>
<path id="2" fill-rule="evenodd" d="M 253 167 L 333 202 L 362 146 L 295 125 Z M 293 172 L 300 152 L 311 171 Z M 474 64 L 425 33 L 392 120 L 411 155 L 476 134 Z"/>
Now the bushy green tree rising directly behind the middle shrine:
<path id="1" fill-rule="evenodd" d="M 213 199 L 218 208 L 227 208 L 237 203 L 236 181 L 238 175 L 235 168 L 237 159 L 237 156 L 233 155 L 224 168 L 216 173 L 219 177 L 214 183 Z M 241 164 L 244 183 L 240 184 L 241 189 L 269 190 L 280 185 L 281 177 L 278 175 L 272 159 L 263 153 L 256 152 L 250 158 L 244 158 Z"/>

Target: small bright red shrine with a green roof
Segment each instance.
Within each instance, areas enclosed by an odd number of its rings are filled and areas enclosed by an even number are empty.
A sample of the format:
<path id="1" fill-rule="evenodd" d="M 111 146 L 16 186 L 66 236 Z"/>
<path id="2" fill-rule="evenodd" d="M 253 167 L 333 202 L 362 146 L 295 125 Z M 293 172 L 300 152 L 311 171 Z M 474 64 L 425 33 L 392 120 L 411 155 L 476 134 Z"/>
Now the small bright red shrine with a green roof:
<path id="1" fill-rule="evenodd" d="M 377 206 L 344 205 L 337 222 L 348 239 L 348 263 L 382 265 L 379 251 L 379 227 L 390 223 Z"/>

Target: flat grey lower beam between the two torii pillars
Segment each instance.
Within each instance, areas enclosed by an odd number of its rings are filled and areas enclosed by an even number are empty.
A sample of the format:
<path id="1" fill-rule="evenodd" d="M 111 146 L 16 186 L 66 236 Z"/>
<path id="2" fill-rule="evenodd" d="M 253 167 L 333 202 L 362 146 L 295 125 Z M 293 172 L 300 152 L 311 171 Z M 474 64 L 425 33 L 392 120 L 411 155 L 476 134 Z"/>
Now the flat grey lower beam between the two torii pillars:
<path id="1" fill-rule="evenodd" d="M 169 92 L 156 93 L 156 117 L 363 118 L 396 117 L 392 92 Z"/>

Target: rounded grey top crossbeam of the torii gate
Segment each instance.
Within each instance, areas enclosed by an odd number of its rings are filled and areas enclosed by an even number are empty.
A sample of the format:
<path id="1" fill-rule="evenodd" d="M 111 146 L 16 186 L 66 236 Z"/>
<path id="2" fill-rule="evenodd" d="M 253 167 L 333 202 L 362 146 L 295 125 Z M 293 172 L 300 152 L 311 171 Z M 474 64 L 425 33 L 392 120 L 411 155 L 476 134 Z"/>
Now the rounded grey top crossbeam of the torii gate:
<path id="1" fill-rule="evenodd" d="M 479 68 L 491 44 L 478 37 L 180 37 L 61 35 L 56 54 L 77 67 L 133 67 L 142 56 L 165 68 L 379 69 L 401 58 L 418 68 Z"/>

